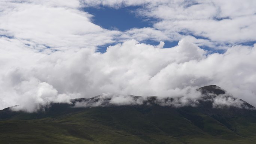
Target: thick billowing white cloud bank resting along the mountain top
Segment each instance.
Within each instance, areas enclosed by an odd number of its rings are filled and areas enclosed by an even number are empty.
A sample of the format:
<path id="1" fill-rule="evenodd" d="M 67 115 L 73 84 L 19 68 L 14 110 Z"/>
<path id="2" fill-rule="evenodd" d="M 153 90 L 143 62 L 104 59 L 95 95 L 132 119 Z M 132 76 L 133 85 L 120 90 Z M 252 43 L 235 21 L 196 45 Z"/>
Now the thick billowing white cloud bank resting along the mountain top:
<path id="1" fill-rule="evenodd" d="M 8 65 L 1 64 L 1 108 L 20 104 L 21 110 L 36 111 L 36 104 L 103 93 L 193 99 L 193 90 L 211 84 L 256 105 L 255 46 L 235 46 L 223 54 L 207 54 L 186 39 L 173 48 L 161 46 L 128 40 L 108 47 L 106 53 L 80 49 L 51 55 L 24 48 L 1 49 L 2 53 L 22 51 L 12 53 L 15 59 L 9 59 Z M 116 101 L 132 103 L 124 97 L 112 99 Z M 179 99 L 177 103 L 189 102 Z"/>

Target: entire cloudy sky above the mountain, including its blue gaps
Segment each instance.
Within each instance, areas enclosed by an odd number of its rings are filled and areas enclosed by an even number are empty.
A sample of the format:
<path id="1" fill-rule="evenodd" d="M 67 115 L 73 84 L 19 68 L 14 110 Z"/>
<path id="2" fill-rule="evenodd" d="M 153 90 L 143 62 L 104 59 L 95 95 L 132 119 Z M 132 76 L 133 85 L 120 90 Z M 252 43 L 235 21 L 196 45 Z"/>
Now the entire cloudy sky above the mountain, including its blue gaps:
<path id="1" fill-rule="evenodd" d="M 255 0 L 0 0 L 0 109 L 218 85 L 256 106 Z"/>

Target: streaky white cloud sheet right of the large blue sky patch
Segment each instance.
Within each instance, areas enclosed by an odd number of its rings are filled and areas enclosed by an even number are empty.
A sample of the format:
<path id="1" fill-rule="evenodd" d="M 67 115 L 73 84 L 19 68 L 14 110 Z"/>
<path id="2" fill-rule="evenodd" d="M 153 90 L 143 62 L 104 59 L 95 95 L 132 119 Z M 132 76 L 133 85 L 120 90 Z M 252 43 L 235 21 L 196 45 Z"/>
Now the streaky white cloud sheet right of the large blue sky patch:
<path id="1" fill-rule="evenodd" d="M 255 1 L 172 1 L 149 4 L 141 15 L 161 19 L 154 27 L 169 33 L 193 34 L 214 43 L 255 41 Z"/>

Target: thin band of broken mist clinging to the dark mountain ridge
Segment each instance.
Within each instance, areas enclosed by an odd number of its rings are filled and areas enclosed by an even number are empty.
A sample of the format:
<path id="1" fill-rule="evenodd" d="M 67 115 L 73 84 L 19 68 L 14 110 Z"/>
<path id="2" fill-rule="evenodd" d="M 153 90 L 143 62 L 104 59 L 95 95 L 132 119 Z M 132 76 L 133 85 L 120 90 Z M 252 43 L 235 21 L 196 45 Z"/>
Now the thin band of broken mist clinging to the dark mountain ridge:
<path id="1" fill-rule="evenodd" d="M 240 98 L 235 98 L 231 94 L 206 93 L 201 94 L 201 91 L 189 91 L 187 95 L 175 97 L 156 97 L 156 96 L 133 96 L 133 95 L 115 95 L 102 94 L 93 98 L 87 99 L 72 99 L 73 107 L 109 107 L 120 105 L 161 105 L 167 107 L 180 108 L 185 106 L 197 107 L 204 102 L 210 102 L 213 108 L 237 107 L 254 110 Z M 209 105 L 210 106 L 210 105 Z"/>

